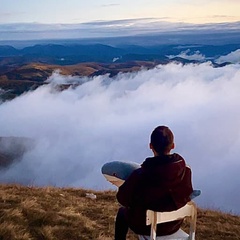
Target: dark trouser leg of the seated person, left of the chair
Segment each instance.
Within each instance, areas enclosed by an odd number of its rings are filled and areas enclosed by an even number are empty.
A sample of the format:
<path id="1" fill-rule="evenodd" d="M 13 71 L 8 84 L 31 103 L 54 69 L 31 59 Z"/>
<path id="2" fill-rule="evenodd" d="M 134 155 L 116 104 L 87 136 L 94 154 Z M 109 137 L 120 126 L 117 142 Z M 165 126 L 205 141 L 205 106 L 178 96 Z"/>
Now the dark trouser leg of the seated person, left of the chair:
<path id="1" fill-rule="evenodd" d="M 115 240 L 126 240 L 128 232 L 128 223 L 126 221 L 125 208 L 118 209 L 115 222 Z"/>

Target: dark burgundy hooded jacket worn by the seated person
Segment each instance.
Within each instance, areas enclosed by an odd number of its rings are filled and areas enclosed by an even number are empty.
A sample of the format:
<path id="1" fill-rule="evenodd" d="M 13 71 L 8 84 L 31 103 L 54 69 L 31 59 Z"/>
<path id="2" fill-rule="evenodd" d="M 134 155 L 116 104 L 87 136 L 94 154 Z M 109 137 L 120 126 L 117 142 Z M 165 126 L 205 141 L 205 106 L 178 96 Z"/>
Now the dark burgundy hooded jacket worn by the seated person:
<path id="1" fill-rule="evenodd" d="M 146 210 L 172 211 L 190 201 L 193 192 L 191 169 L 177 153 L 147 158 L 119 187 L 117 200 L 125 207 L 129 227 L 137 234 L 150 235 Z M 157 235 L 176 232 L 182 220 L 158 224 Z"/>

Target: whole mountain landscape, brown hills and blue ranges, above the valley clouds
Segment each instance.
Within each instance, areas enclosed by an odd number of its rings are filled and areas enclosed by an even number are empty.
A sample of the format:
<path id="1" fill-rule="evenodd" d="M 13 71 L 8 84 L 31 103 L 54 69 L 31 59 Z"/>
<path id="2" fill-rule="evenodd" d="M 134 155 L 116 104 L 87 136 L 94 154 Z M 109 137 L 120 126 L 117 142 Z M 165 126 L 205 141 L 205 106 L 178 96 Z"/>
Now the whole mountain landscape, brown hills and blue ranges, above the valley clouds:
<path id="1" fill-rule="evenodd" d="M 169 62 L 201 63 L 211 61 L 216 67 L 229 64 L 217 62 L 224 55 L 240 49 L 239 44 L 62 44 L 46 43 L 21 49 L 0 45 L 0 98 L 15 96 L 45 84 L 54 70 L 72 76 L 97 76 L 153 68 Z"/>

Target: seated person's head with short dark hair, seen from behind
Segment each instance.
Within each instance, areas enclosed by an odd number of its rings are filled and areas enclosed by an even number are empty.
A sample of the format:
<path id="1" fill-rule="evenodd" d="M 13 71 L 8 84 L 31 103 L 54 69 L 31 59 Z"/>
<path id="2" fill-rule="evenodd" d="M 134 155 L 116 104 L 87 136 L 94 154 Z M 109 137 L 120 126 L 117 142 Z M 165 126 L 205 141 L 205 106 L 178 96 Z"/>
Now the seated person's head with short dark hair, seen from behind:
<path id="1" fill-rule="evenodd" d="M 154 155 L 168 154 L 174 148 L 174 136 L 166 126 L 156 127 L 150 139 L 150 148 Z"/>

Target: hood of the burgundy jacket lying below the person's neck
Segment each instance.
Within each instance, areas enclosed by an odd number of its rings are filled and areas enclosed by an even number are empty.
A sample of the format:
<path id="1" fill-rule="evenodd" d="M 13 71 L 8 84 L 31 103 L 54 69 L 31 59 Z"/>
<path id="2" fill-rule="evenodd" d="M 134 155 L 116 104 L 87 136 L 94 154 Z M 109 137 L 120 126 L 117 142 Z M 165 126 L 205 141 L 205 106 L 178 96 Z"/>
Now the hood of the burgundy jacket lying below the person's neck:
<path id="1" fill-rule="evenodd" d="M 161 155 L 147 158 L 142 164 L 142 170 L 155 185 L 174 186 L 184 177 L 186 163 L 177 153 Z"/>

